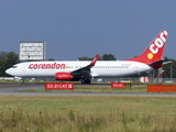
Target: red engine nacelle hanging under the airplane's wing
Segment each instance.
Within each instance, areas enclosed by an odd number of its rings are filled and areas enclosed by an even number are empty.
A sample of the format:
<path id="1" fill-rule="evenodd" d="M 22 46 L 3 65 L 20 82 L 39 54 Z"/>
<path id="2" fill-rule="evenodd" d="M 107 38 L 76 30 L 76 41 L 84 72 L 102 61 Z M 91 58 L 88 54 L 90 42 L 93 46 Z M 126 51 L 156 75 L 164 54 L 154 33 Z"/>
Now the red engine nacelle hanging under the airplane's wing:
<path id="1" fill-rule="evenodd" d="M 72 80 L 73 76 L 70 73 L 56 73 L 55 79 L 56 80 Z"/>

